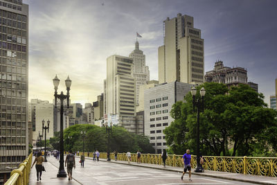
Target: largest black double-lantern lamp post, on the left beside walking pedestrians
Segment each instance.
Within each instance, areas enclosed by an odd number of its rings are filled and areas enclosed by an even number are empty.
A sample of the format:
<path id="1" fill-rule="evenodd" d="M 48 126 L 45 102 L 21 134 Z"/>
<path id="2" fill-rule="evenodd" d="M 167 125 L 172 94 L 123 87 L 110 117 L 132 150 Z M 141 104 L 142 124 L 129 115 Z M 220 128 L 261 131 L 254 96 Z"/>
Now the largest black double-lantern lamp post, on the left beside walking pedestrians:
<path id="1" fill-rule="evenodd" d="M 69 90 L 71 87 L 71 80 L 69 77 L 65 80 L 66 85 L 66 95 L 61 91 L 61 94 L 57 94 L 57 87 L 60 84 L 60 79 L 57 75 L 53 79 L 54 89 L 55 89 L 55 108 L 57 108 L 57 98 L 60 99 L 60 167 L 57 173 L 57 177 L 66 177 L 66 172 L 64 170 L 64 100 L 67 100 L 67 108 L 69 108 Z"/>

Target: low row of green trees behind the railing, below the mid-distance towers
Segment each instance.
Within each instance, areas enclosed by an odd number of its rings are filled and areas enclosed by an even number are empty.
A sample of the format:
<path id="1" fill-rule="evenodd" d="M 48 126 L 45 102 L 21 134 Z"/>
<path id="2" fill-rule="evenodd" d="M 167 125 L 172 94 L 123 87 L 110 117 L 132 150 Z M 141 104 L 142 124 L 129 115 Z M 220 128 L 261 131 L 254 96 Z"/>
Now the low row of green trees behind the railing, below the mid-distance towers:
<path id="1" fill-rule="evenodd" d="M 93 152 L 95 150 L 107 152 L 108 135 L 106 128 L 88 124 L 73 125 L 64 130 L 64 150 L 82 151 L 83 138 L 81 131 L 86 132 L 84 136 L 85 152 Z M 51 139 L 52 145 L 60 141 L 59 135 Z M 111 152 L 114 150 L 118 152 L 136 152 L 137 150 L 143 153 L 154 152 L 154 148 L 150 145 L 148 137 L 130 133 L 123 127 L 113 126 L 109 136 Z M 56 149 L 57 147 L 54 148 Z"/>

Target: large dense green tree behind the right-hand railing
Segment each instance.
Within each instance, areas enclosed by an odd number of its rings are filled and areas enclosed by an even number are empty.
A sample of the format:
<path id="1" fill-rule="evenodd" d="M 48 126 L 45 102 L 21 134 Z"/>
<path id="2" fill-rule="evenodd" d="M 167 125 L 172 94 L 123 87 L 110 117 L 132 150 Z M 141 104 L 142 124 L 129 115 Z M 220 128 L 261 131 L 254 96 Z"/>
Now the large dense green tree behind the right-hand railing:
<path id="1" fill-rule="evenodd" d="M 204 112 L 200 114 L 200 149 L 203 155 L 269 155 L 277 150 L 277 112 L 267 108 L 264 96 L 248 85 L 228 89 L 224 84 L 204 83 Z M 197 93 L 196 98 L 199 98 Z M 164 130 L 167 145 L 176 154 L 196 151 L 196 113 L 193 98 L 177 102 L 170 112 L 175 119 Z"/>

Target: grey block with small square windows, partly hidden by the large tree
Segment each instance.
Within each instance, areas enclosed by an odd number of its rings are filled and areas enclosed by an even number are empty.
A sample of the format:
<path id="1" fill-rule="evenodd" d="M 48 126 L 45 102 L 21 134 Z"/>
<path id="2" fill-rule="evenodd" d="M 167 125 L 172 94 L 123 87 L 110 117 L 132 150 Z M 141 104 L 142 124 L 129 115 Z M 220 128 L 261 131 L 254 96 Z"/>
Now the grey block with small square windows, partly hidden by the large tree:
<path id="1" fill-rule="evenodd" d="M 179 100 L 184 100 L 184 96 L 190 92 L 191 87 L 193 85 L 175 81 L 145 89 L 145 136 L 150 137 L 150 143 L 156 153 L 161 153 L 163 149 L 168 148 L 163 130 L 174 121 L 170 116 L 172 105 Z"/>

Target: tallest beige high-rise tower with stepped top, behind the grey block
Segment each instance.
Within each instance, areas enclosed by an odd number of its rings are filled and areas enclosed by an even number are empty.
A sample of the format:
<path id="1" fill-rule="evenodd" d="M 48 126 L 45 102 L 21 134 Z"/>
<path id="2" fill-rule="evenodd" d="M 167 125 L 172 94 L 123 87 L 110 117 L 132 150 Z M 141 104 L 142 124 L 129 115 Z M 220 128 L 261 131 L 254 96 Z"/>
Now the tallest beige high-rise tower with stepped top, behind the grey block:
<path id="1" fill-rule="evenodd" d="M 159 82 L 204 82 L 204 39 L 193 17 L 181 15 L 163 21 L 159 47 Z"/>

